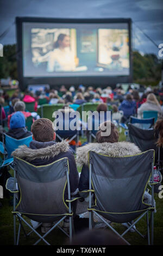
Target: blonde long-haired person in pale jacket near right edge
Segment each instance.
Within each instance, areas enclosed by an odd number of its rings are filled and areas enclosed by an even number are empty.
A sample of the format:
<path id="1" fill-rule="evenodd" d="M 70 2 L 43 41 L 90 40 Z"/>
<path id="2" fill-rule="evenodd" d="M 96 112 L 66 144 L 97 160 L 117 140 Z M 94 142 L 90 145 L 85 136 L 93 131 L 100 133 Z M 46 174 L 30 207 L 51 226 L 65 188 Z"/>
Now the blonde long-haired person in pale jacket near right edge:
<path id="1" fill-rule="evenodd" d="M 142 117 L 143 111 L 157 111 L 159 117 L 162 115 L 162 109 L 159 101 L 153 93 L 149 93 L 147 95 L 147 101 L 137 109 L 137 115 L 139 118 Z"/>

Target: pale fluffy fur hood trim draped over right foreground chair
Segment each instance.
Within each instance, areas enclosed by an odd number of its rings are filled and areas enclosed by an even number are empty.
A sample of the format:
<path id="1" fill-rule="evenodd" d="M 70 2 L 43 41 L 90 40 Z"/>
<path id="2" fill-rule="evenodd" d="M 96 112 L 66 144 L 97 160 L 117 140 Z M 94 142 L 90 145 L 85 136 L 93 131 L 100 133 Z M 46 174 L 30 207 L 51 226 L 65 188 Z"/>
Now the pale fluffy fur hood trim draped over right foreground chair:
<path id="1" fill-rule="evenodd" d="M 77 166 L 83 166 L 88 164 L 88 153 L 93 151 L 108 155 L 110 157 L 123 157 L 127 155 L 135 155 L 141 153 L 140 149 L 130 142 L 116 142 L 116 143 L 89 143 L 77 149 Z"/>

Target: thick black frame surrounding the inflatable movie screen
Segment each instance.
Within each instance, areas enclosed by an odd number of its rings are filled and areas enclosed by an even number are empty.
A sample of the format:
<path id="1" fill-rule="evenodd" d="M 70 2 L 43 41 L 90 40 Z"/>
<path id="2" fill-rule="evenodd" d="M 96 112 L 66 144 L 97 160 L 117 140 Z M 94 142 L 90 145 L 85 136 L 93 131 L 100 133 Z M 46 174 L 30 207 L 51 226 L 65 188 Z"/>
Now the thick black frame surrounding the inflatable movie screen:
<path id="1" fill-rule="evenodd" d="M 71 77 L 24 77 L 23 76 L 23 44 L 22 44 L 22 27 L 23 22 L 38 23 L 128 23 L 129 29 L 129 75 L 124 76 L 71 76 Z M 64 84 L 66 87 L 74 85 L 79 86 L 115 86 L 116 83 L 133 82 L 133 54 L 131 50 L 131 19 L 53 19 L 43 17 L 16 17 L 16 38 L 17 38 L 17 72 L 19 87 L 25 90 L 29 84 L 49 84 L 49 86 L 57 87 Z"/>

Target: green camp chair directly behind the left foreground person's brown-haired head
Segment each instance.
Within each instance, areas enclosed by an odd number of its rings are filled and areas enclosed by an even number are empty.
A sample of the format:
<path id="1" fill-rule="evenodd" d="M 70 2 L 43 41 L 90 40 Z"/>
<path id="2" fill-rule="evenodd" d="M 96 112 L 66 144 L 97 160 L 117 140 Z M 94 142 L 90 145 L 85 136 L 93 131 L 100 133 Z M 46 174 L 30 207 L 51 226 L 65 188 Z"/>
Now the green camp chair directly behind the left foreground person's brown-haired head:
<path id="1" fill-rule="evenodd" d="M 43 104 L 37 109 L 37 114 L 40 115 L 41 118 L 48 118 L 51 121 L 54 121 L 53 113 L 58 111 L 58 109 L 62 108 L 64 104 Z"/>

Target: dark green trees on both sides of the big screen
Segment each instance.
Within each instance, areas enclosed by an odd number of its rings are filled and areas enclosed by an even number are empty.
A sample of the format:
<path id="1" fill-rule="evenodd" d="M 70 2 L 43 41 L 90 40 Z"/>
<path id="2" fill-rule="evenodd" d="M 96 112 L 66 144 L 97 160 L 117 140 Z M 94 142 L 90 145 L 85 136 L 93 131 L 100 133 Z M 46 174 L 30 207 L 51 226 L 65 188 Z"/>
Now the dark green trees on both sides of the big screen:
<path id="1" fill-rule="evenodd" d="M 18 80 L 16 44 L 4 45 L 3 56 L 0 58 L 0 79 L 11 77 Z M 133 82 L 156 85 L 161 80 L 161 60 L 155 54 L 142 56 L 133 52 Z"/>

